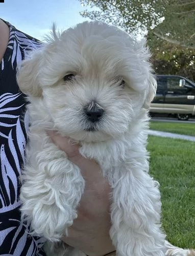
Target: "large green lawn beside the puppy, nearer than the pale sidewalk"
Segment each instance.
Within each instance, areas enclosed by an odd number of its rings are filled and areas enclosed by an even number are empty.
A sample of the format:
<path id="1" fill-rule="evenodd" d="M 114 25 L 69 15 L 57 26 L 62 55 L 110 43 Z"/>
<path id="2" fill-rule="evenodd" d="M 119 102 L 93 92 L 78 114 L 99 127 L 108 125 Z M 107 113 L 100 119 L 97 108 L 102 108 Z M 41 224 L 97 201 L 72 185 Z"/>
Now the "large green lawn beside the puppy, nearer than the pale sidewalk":
<path id="1" fill-rule="evenodd" d="M 150 173 L 160 182 L 167 239 L 195 248 L 195 143 L 149 136 L 148 151 Z"/>

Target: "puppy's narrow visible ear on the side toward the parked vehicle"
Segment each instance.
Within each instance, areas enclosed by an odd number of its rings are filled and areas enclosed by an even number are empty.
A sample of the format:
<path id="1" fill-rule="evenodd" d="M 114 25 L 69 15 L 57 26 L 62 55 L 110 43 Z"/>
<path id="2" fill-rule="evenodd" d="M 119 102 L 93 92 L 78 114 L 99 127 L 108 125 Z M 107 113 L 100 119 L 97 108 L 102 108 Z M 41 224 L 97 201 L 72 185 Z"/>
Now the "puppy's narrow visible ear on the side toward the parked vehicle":
<path id="1" fill-rule="evenodd" d="M 154 99 L 156 95 L 156 89 L 157 89 L 157 82 L 154 75 L 150 74 L 149 78 L 147 79 L 147 90 L 145 92 L 145 101 L 143 103 L 144 109 L 150 108 L 150 103 Z"/>

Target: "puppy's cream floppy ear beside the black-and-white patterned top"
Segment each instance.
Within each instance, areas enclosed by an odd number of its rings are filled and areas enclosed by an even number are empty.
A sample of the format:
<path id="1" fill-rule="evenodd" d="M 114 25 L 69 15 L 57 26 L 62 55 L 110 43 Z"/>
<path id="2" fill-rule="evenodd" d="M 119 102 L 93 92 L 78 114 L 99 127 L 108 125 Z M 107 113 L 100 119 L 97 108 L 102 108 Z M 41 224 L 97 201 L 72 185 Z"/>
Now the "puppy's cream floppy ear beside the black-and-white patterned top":
<path id="1" fill-rule="evenodd" d="M 38 50 L 20 63 L 16 78 L 22 93 L 34 97 L 42 95 L 42 89 L 39 84 L 41 60 L 41 51 Z"/>

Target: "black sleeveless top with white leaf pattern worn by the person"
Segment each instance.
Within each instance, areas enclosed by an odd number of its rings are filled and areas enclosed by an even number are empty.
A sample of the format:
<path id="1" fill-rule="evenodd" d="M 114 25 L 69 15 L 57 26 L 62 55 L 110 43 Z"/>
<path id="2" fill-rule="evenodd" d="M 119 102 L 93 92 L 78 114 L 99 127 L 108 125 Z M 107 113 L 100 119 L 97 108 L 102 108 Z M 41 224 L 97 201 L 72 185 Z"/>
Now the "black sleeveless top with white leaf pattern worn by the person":
<path id="1" fill-rule="evenodd" d="M 44 240 L 30 237 L 29 223 L 20 221 L 18 199 L 29 124 L 25 95 L 16 83 L 16 67 L 40 41 L 6 24 L 10 38 L 0 63 L 0 255 L 45 255 L 41 249 Z"/>

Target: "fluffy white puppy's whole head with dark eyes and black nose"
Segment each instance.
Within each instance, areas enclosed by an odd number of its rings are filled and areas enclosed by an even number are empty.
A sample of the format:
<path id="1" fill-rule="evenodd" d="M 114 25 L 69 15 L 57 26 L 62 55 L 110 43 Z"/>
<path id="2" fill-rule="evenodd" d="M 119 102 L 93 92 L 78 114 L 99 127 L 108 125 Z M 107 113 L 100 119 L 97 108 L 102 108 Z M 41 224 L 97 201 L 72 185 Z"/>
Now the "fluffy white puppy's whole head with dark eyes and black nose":
<path id="1" fill-rule="evenodd" d="M 21 91 L 32 104 L 38 97 L 55 129 L 76 140 L 102 141 L 128 131 L 155 93 L 143 44 L 96 22 L 54 37 L 23 61 Z"/>

